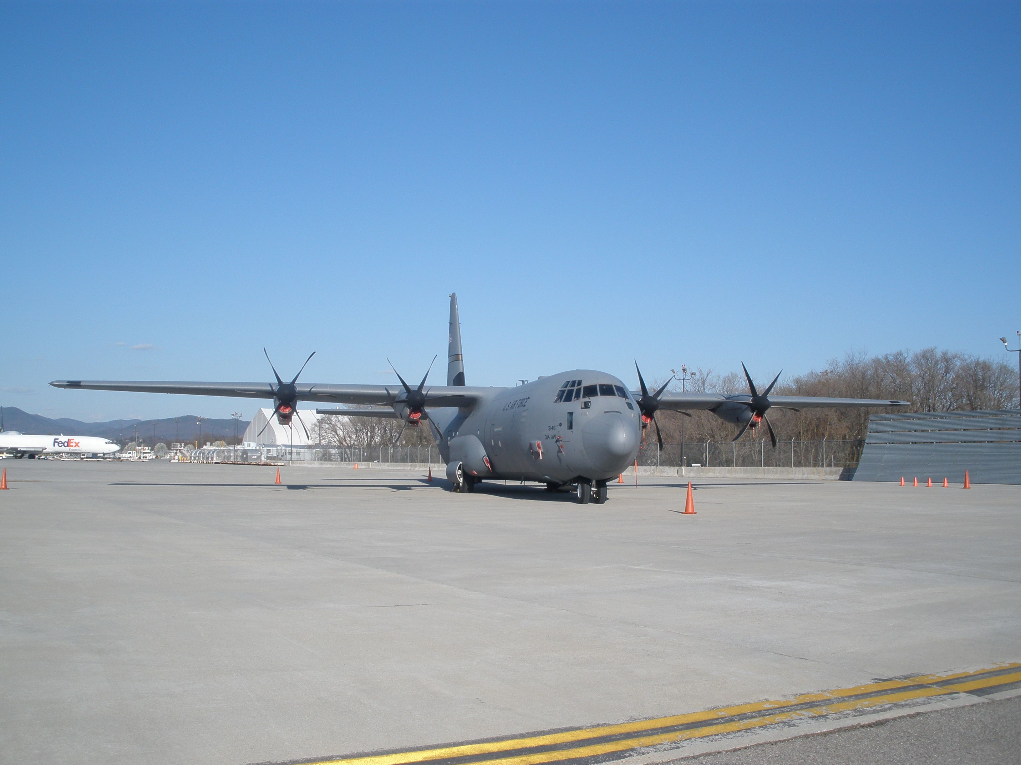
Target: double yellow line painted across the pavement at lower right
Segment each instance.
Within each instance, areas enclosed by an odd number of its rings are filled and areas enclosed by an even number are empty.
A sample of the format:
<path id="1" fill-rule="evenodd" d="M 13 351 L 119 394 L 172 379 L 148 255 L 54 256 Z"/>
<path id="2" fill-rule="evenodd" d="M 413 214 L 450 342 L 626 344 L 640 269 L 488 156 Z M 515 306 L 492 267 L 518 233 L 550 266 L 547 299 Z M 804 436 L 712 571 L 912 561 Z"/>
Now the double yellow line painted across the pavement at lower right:
<path id="1" fill-rule="evenodd" d="M 369 755 L 366 757 L 339 758 L 330 760 L 320 760 L 308 765 L 402 765 L 404 763 L 428 762 L 430 760 L 442 760 L 452 757 L 470 757 L 473 755 L 487 755 L 497 752 L 508 752 L 521 749 L 531 749 L 537 747 L 553 746 L 558 744 L 569 744 L 572 742 L 584 742 L 587 738 L 601 738 L 610 735 L 620 735 L 623 733 L 640 733 L 645 730 L 674 727 L 695 722 L 709 722 L 714 719 L 733 717 L 736 715 L 761 712 L 770 709 L 783 710 L 784 708 L 807 704 L 811 702 L 821 702 L 829 699 L 834 700 L 832 704 L 823 704 L 810 709 L 797 709 L 780 711 L 774 715 L 756 717 L 748 720 L 735 720 L 716 725 L 709 724 L 688 730 L 675 730 L 666 733 L 654 733 L 650 735 L 637 735 L 622 738 L 616 742 L 603 744 L 593 744 L 587 747 L 574 747 L 570 749 L 556 750 L 551 752 L 539 752 L 535 754 L 515 755 L 505 758 L 487 759 L 486 765 L 537 765 L 538 763 L 556 762 L 560 760 L 571 760 L 582 757 L 594 757 L 598 755 L 623 752 L 629 749 L 641 747 L 651 747 L 658 744 L 687 741 L 689 738 L 701 738 L 721 733 L 747 730 L 749 728 L 773 725 L 786 720 L 794 720 L 805 717 L 819 717 L 837 712 L 844 712 L 855 709 L 867 709 L 869 707 L 881 706 L 884 704 L 896 704 L 915 699 L 924 699 L 935 696 L 945 696 L 955 693 L 967 693 L 981 687 L 1007 684 L 1021 680 L 1021 672 L 998 675 L 973 681 L 966 678 L 996 669 L 1008 669 L 1021 667 L 1021 664 L 1003 664 L 990 669 L 979 669 L 972 672 L 957 672 L 952 674 L 929 674 L 909 677 L 901 680 L 885 680 L 882 682 L 872 682 L 864 685 L 855 685 L 847 688 L 836 688 L 814 694 L 801 694 L 789 699 L 779 701 L 753 702 L 732 707 L 720 707 L 717 709 L 692 712 L 683 715 L 673 715 L 671 717 L 658 717 L 648 720 L 638 720 L 635 722 L 621 723 L 617 725 L 600 725 L 576 730 L 565 730 L 557 733 L 545 733 L 534 736 L 522 736 L 517 738 L 504 738 L 496 742 L 480 742 L 476 744 L 461 744 L 451 747 L 440 747 L 435 749 L 415 750 L 410 752 L 397 752 L 387 755 Z M 941 687 L 927 686 L 916 687 L 914 691 L 896 693 L 898 688 L 912 687 L 920 684 L 945 681 L 947 679 L 962 679 L 963 682 L 947 684 Z M 891 693 L 872 696 L 867 699 L 850 699 L 840 702 L 839 699 L 857 697 L 865 694 L 876 694 L 881 691 Z"/>

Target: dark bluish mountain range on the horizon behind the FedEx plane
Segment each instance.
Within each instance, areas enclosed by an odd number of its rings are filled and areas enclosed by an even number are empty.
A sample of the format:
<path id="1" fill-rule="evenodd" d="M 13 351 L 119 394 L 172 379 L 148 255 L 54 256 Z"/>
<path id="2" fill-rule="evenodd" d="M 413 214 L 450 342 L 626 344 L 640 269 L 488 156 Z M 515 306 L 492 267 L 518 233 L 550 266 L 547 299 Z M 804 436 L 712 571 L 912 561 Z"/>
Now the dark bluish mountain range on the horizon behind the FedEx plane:
<path id="1" fill-rule="evenodd" d="M 165 419 L 111 419 L 107 422 L 82 422 L 77 419 L 60 417 L 50 419 L 41 414 L 29 414 L 17 407 L 3 407 L 3 428 L 35 436 L 99 436 L 110 441 L 127 443 L 135 440 L 138 427 L 139 442 L 152 445 L 155 441 L 171 443 L 172 441 L 195 442 L 199 439 L 198 417 L 194 414 L 183 414 L 180 417 Z M 238 438 L 244 435 L 249 420 L 238 420 Z M 223 439 L 234 439 L 233 419 L 202 420 L 202 442 L 212 442 Z M 155 430 L 153 429 L 155 428 Z"/>

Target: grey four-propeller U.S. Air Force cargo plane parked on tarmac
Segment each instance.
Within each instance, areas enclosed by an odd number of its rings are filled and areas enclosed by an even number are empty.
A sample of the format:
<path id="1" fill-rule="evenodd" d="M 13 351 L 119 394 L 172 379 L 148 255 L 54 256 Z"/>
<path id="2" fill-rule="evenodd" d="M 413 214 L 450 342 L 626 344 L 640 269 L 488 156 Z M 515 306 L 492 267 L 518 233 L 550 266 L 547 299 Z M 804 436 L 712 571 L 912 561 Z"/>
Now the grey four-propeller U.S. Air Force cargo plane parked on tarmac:
<path id="1" fill-rule="evenodd" d="M 270 366 L 277 379 L 276 386 L 272 382 L 79 379 L 54 380 L 50 385 L 90 391 L 273 399 L 273 414 L 284 425 L 290 424 L 298 401 L 368 406 L 370 408 L 317 411 L 322 414 L 396 418 L 403 420 L 404 426 L 428 423 L 440 456 L 447 465 L 446 474 L 454 492 L 471 493 L 478 482 L 487 479 L 529 480 L 543 482 L 549 491 L 573 488 L 582 504 L 590 500 L 605 502 L 607 481 L 634 462 L 644 427 L 655 424 L 662 445 L 659 422 L 655 421 L 655 412 L 660 409 L 685 414 L 692 409 L 713 412 L 727 422 L 740 425 L 737 438 L 749 426 L 766 422 L 775 447 L 776 435 L 766 418 L 770 408 L 889 407 L 908 403 L 811 396 L 770 397 L 780 375 L 760 394 L 747 369 L 744 373 L 749 393 L 731 396 L 668 393 L 667 384 L 650 393 L 640 370 L 640 392 L 629 391 L 619 377 L 595 369 L 572 369 L 516 388 L 467 386 L 455 294 L 450 295 L 445 386 L 427 388 L 428 370 L 415 388 L 399 373 L 399 388 L 318 382 L 299 385 L 301 370 L 287 382 L 277 373 L 273 361 L 270 361 Z M 635 366 L 637 369 L 637 364 Z M 304 365 L 301 368 L 304 369 Z"/>

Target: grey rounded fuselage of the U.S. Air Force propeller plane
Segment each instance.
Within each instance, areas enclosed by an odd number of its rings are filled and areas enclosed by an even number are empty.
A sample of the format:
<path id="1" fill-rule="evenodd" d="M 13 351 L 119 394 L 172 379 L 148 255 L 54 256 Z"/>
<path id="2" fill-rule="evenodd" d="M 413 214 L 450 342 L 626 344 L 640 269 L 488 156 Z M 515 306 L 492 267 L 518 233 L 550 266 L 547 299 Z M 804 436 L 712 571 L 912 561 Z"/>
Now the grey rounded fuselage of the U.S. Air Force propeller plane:
<path id="1" fill-rule="evenodd" d="M 493 388 L 473 410 L 430 409 L 443 460 L 479 479 L 616 478 L 638 454 L 641 414 L 627 387 L 593 369 Z"/>

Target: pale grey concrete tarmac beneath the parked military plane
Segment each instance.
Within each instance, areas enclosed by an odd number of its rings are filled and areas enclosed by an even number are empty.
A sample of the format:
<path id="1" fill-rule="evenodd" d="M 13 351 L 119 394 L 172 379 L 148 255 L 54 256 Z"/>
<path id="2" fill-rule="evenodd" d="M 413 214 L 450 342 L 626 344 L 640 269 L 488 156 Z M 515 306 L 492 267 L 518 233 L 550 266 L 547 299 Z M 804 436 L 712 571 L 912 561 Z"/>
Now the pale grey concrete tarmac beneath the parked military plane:
<path id="1" fill-rule="evenodd" d="M 1021 661 L 1017 487 L 712 479 L 683 516 L 669 478 L 582 507 L 0 464 L 2 762 L 288 761 Z"/>

